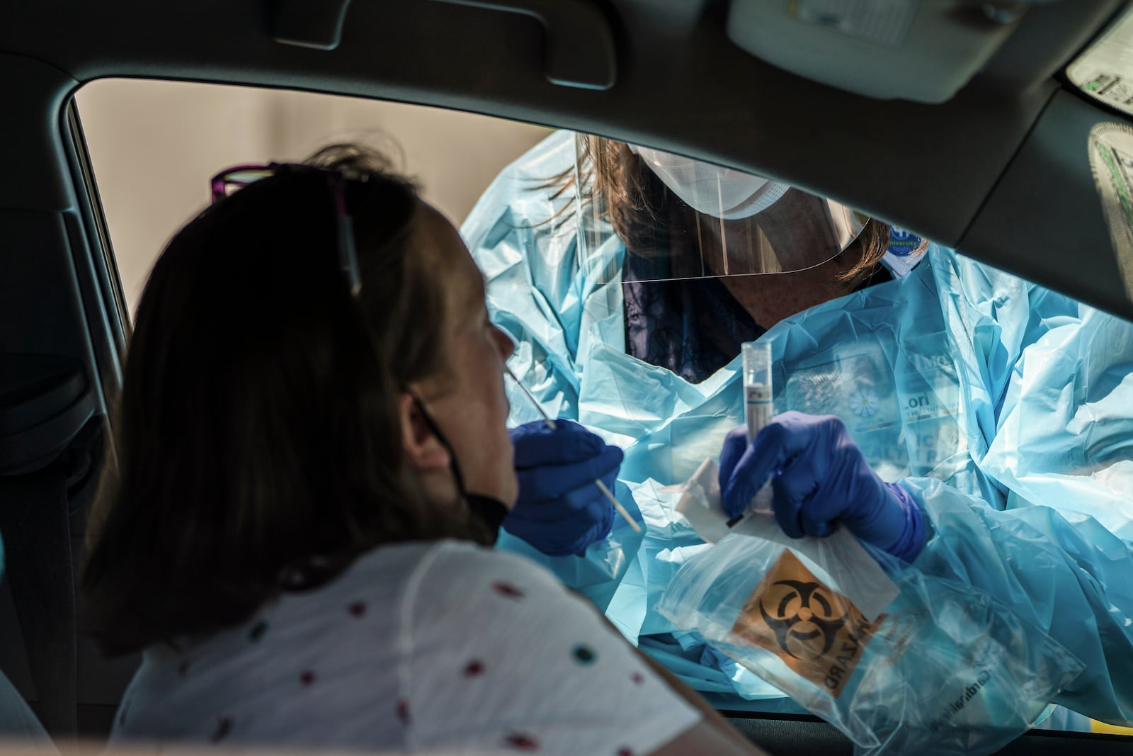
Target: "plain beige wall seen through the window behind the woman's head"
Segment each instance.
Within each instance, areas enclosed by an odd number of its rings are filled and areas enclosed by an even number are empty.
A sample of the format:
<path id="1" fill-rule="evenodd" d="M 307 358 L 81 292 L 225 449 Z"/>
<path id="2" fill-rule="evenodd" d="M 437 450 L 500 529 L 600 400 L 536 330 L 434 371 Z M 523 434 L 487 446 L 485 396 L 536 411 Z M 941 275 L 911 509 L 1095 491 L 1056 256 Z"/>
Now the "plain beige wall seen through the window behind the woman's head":
<path id="1" fill-rule="evenodd" d="M 547 134 L 437 108 L 212 84 L 103 79 L 76 102 L 130 313 L 157 253 L 224 168 L 360 142 L 459 226 L 496 173 Z"/>

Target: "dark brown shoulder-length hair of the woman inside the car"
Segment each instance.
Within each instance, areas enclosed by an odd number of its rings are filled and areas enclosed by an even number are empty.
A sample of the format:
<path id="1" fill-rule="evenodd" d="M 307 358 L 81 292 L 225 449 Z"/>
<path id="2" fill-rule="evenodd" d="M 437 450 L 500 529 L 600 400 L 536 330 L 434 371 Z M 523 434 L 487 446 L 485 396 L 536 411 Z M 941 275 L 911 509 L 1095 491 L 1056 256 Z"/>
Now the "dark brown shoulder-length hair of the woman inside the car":
<path id="1" fill-rule="evenodd" d="M 317 172 L 208 207 L 146 283 L 83 574 L 108 653 L 238 623 L 378 544 L 486 538 L 463 509 L 426 501 L 402 461 L 399 396 L 444 368 L 417 192 L 356 147 L 312 162 L 365 175 L 346 184 L 360 298 Z"/>

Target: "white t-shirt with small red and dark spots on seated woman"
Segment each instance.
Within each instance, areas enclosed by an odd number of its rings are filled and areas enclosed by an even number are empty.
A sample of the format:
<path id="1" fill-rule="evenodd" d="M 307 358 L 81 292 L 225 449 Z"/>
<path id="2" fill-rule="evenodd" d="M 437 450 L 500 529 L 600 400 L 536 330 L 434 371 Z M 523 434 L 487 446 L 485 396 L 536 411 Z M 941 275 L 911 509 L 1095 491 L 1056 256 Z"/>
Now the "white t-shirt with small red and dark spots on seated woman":
<path id="1" fill-rule="evenodd" d="M 543 567 L 442 541 L 146 649 L 111 745 L 632 756 L 700 719 Z"/>

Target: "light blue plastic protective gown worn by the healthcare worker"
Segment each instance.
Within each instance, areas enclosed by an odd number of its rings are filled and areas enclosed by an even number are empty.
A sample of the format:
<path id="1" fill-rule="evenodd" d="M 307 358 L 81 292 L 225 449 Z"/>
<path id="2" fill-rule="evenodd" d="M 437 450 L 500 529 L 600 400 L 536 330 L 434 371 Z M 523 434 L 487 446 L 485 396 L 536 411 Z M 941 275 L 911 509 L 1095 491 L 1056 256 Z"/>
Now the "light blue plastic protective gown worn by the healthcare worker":
<path id="1" fill-rule="evenodd" d="M 554 415 L 625 450 L 620 520 L 585 558 L 548 559 L 641 648 L 715 703 L 782 694 L 680 632 L 653 606 L 706 547 L 673 511 L 674 486 L 742 422 L 740 359 L 689 383 L 625 354 L 611 232 L 583 249 L 576 215 L 547 180 L 573 164 L 556 133 L 488 188 L 461 229 L 488 281 L 510 364 Z M 564 211 L 561 212 L 560 211 Z M 556 216 L 556 213 L 557 216 Z M 761 337 L 775 409 L 835 414 L 874 469 L 920 502 L 932 537 L 915 561 L 1007 603 L 1084 664 L 1056 698 L 1133 722 L 1133 325 L 930 245 L 896 280 L 792 316 Z M 514 391 L 512 421 L 536 419 Z"/>

